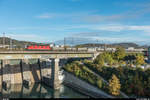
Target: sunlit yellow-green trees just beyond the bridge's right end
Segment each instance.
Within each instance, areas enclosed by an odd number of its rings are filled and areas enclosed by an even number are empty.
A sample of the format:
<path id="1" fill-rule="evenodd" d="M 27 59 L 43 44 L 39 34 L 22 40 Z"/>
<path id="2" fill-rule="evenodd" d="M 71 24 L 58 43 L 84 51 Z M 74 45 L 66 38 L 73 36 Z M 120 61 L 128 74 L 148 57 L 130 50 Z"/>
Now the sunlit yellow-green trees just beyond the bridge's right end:
<path id="1" fill-rule="evenodd" d="M 101 66 L 141 66 L 146 64 L 143 54 L 125 53 L 123 48 L 117 48 L 115 52 L 104 52 L 97 56 L 93 62 Z"/>

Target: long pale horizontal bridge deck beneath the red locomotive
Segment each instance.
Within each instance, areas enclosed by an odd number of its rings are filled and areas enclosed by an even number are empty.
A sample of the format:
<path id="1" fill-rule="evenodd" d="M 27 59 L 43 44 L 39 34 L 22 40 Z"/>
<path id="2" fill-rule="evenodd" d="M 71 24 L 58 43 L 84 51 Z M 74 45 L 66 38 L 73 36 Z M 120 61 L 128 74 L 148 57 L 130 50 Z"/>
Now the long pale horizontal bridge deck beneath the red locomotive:
<path id="1" fill-rule="evenodd" d="M 47 59 L 47 58 L 85 58 L 93 57 L 87 51 L 0 51 L 0 59 Z"/>

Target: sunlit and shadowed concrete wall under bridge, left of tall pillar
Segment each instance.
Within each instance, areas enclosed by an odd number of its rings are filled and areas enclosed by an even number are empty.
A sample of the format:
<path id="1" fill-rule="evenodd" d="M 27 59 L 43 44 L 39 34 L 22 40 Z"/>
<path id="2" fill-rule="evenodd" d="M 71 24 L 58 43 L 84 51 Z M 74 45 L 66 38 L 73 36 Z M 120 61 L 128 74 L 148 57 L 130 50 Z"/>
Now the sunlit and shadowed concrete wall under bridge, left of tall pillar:
<path id="1" fill-rule="evenodd" d="M 2 60 L 0 62 L 0 89 L 2 82 L 11 84 L 23 83 L 29 80 L 31 83 L 40 82 L 43 76 L 52 77 L 52 66 L 46 65 L 45 61 L 37 60 L 30 63 L 28 59 L 18 60 L 17 64 L 12 60 Z"/>

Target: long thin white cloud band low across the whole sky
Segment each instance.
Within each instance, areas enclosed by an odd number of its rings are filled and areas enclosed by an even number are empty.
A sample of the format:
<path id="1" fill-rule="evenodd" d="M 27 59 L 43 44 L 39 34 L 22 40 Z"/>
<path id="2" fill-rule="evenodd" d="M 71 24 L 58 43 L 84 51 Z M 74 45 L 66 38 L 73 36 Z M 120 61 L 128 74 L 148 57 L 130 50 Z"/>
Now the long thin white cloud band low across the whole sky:
<path id="1" fill-rule="evenodd" d="M 62 26 L 51 26 L 51 27 L 10 27 L 8 30 L 58 30 L 58 31 L 67 31 L 73 29 L 88 29 L 88 30 L 105 30 L 105 31 L 114 31 L 120 32 L 123 30 L 133 30 L 133 31 L 143 31 L 150 32 L 150 25 L 121 25 L 121 24 L 105 24 L 105 25 L 91 25 L 91 24 L 81 24 L 81 25 L 62 25 Z"/>

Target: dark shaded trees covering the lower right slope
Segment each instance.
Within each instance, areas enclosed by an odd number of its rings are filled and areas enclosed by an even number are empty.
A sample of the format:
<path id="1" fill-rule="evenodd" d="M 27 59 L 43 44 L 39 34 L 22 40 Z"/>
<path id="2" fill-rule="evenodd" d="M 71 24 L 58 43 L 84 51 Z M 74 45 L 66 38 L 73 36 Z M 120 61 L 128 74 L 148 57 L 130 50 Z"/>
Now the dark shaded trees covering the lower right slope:
<path id="1" fill-rule="evenodd" d="M 101 75 L 107 81 L 114 74 L 121 83 L 121 91 L 129 96 L 148 97 L 150 96 L 150 69 L 132 67 L 106 67 L 98 66 L 90 62 L 86 65 L 97 74 Z"/>

